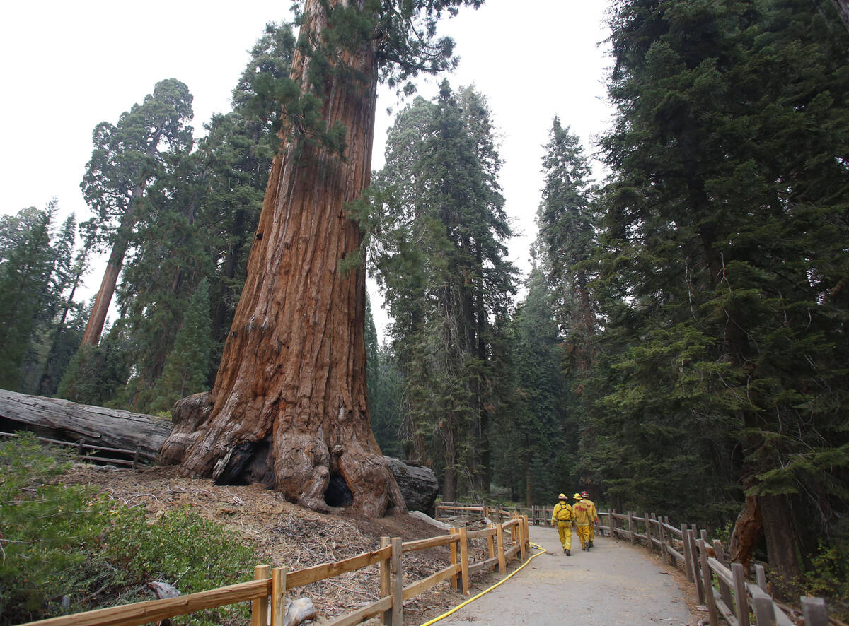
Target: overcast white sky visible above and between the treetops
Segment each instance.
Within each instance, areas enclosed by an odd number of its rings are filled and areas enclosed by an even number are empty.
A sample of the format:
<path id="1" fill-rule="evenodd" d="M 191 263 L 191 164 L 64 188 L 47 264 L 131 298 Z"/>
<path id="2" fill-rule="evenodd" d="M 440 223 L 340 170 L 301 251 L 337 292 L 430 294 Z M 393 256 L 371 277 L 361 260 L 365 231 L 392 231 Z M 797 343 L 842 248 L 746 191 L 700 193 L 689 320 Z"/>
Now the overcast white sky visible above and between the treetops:
<path id="1" fill-rule="evenodd" d="M 488 98 L 502 137 L 502 186 L 506 210 L 523 237 L 510 245 L 511 260 L 528 267 L 535 234 L 533 215 L 543 185 L 542 144 L 552 117 L 594 151 L 592 137 L 610 123 L 604 100 L 610 64 L 602 0 L 486 0 L 477 11 L 444 20 L 461 57 L 448 75 L 453 87 L 474 84 Z M 248 51 L 269 21 L 289 20 L 290 0 L 31 0 L 4 8 L 0 23 L 0 119 L 6 124 L 0 151 L 0 211 L 16 213 L 59 198 L 63 214 L 88 217 L 80 181 L 91 156 L 91 133 L 115 122 L 157 81 L 177 78 L 194 95 L 194 126 L 229 109 L 230 91 Z M 431 98 L 441 76 L 421 84 Z M 387 106 L 378 103 L 373 167 L 383 163 Z M 100 282 L 87 277 L 88 297 Z M 374 296 L 373 296 L 374 298 Z M 375 309 L 380 302 L 374 302 Z M 375 310 L 382 327 L 385 317 Z"/>

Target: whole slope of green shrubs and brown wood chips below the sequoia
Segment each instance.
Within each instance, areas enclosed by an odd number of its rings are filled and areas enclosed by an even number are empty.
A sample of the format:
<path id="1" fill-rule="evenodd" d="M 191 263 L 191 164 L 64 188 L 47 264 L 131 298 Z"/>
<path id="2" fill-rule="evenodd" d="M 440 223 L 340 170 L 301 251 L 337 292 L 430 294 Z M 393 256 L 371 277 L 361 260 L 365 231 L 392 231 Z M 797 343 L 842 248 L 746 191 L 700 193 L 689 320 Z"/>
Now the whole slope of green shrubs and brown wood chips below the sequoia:
<path id="1" fill-rule="evenodd" d="M 173 467 L 132 471 L 71 464 L 59 455 L 31 439 L 0 444 L 2 625 L 152 600 L 148 583 L 154 580 L 188 594 L 250 579 L 260 563 L 296 570 L 374 550 L 383 535 L 443 534 L 407 516 L 320 515 L 258 485 L 217 486 L 180 477 Z M 486 558 L 483 540 L 472 544 L 473 558 Z M 444 546 L 405 554 L 405 584 L 446 567 L 448 558 Z M 319 617 L 333 617 L 378 600 L 378 580 L 372 566 L 290 597 L 306 595 Z M 473 588 L 490 581 L 479 573 Z M 66 611 L 64 595 L 70 597 Z M 438 585 L 404 603 L 404 622 L 422 623 L 464 599 Z M 249 606 L 173 621 L 246 624 Z"/>

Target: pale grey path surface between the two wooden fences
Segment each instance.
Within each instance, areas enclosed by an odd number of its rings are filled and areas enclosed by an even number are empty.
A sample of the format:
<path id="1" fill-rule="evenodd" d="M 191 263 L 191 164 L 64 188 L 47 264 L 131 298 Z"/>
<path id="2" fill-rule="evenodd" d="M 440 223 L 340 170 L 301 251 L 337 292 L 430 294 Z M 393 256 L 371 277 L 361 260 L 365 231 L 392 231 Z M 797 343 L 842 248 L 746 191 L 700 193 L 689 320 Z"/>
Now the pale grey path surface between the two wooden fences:
<path id="1" fill-rule="evenodd" d="M 573 534 L 572 556 L 565 556 L 557 531 L 542 526 L 531 526 L 531 541 L 548 552 L 438 623 L 694 626 L 699 621 L 680 586 L 683 574 L 644 549 L 596 537 L 593 550 L 582 552 Z"/>

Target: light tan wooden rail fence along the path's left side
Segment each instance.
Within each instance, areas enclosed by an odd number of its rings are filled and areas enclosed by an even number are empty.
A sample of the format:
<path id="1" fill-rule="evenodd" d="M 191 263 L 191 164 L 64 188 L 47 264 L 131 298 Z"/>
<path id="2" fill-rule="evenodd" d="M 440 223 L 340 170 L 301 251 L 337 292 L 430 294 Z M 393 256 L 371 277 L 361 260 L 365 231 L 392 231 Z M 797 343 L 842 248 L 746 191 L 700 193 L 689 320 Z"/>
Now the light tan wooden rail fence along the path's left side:
<path id="1" fill-rule="evenodd" d="M 493 510 L 494 511 L 494 510 Z M 431 587 L 449 580 L 453 589 L 469 595 L 469 576 L 483 569 L 504 574 L 507 563 L 514 558 L 525 561 L 530 550 L 528 519 L 525 516 L 499 511 L 503 523 L 490 523 L 487 528 L 469 531 L 466 528 L 451 528 L 449 534 L 430 539 L 402 541 L 381 537 L 380 548 L 363 552 L 343 561 L 323 563 L 290 572 L 288 567 L 257 566 L 254 580 L 232 584 L 228 587 L 181 595 L 165 600 L 136 602 L 124 606 L 98 609 L 59 618 L 31 622 L 39 626 L 133 626 L 158 622 L 178 615 L 186 615 L 207 609 L 230 606 L 240 602 L 251 602 L 251 626 L 283 626 L 286 612 L 286 593 L 306 584 L 335 578 L 343 573 L 354 572 L 363 567 L 380 566 L 380 600 L 363 606 L 356 612 L 332 618 L 323 626 L 348 626 L 379 616 L 383 623 L 402 626 L 403 602 L 419 595 Z M 469 562 L 469 541 L 486 539 L 488 558 L 481 562 Z M 447 567 L 422 578 L 406 587 L 403 585 L 402 556 L 405 553 L 447 545 L 449 562 Z M 29 625 L 27 625 L 29 626 Z"/>

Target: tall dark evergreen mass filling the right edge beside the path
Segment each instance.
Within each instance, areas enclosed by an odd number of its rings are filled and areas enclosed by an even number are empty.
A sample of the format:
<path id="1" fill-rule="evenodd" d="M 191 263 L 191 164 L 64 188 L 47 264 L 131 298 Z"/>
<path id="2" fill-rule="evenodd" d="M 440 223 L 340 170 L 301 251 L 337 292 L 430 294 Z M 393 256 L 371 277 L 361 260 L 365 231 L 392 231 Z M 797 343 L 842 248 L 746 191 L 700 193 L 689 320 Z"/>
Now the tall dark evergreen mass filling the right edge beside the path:
<path id="1" fill-rule="evenodd" d="M 609 450 L 653 502 L 737 483 L 791 577 L 846 501 L 849 34 L 801 0 L 629 0 L 612 26 Z"/>

